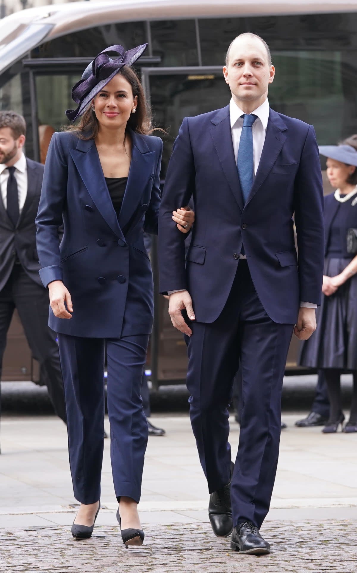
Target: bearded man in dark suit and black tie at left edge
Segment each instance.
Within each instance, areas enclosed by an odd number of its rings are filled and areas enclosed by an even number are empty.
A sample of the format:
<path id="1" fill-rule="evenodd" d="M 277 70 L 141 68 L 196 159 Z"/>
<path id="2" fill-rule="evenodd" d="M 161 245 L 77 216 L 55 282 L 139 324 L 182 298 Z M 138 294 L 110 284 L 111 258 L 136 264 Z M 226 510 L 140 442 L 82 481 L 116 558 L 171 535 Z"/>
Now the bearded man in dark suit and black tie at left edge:
<path id="1" fill-rule="evenodd" d="M 35 241 L 43 165 L 23 154 L 25 135 L 21 115 L 0 112 L 0 373 L 16 308 L 55 413 L 66 422 L 60 358 L 55 335 L 47 327 L 49 297 L 38 274 Z"/>

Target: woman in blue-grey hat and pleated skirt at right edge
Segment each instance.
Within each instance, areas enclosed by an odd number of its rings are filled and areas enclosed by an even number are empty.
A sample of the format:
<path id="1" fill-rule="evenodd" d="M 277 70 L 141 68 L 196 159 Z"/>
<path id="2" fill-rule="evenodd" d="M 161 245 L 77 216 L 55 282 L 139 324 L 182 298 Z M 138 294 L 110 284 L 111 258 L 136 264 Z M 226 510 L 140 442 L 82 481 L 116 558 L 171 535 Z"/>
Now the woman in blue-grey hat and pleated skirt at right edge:
<path id="1" fill-rule="evenodd" d="M 330 399 L 330 418 L 323 433 L 344 422 L 340 375 L 353 374 L 350 419 L 345 432 L 357 431 L 357 248 L 347 247 L 349 229 L 357 233 L 357 135 L 338 146 L 319 147 L 327 157 L 327 176 L 338 189 L 325 197 L 326 255 L 323 300 L 316 312 L 317 328 L 302 348 L 300 364 L 321 368 Z"/>

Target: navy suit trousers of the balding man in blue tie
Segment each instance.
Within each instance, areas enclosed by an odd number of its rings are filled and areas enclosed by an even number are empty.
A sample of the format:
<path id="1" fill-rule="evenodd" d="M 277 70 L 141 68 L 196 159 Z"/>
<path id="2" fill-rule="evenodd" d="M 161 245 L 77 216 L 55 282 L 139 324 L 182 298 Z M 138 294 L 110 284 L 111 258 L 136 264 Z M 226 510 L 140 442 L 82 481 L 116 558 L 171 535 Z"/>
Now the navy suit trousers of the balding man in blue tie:
<path id="1" fill-rule="evenodd" d="M 209 492 L 229 482 L 228 405 L 241 361 L 242 414 L 232 477 L 233 524 L 260 528 L 279 456 L 281 388 L 293 325 L 274 323 L 241 260 L 227 303 L 212 324 L 191 323 L 187 386 L 193 433 Z"/>

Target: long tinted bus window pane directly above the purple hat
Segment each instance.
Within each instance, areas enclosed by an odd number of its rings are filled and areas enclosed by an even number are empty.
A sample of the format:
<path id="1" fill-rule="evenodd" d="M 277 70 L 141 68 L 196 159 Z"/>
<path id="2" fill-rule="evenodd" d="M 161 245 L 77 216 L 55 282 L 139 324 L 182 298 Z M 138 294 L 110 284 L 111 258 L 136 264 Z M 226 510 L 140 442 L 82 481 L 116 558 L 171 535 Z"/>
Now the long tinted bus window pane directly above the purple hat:
<path id="1" fill-rule="evenodd" d="M 144 22 L 113 23 L 80 30 L 46 42 L 35 48 L 31 56 L 40 58 L 94 57 L 114 44 L 130 49 L 145 44 L 146 41 Z"/>

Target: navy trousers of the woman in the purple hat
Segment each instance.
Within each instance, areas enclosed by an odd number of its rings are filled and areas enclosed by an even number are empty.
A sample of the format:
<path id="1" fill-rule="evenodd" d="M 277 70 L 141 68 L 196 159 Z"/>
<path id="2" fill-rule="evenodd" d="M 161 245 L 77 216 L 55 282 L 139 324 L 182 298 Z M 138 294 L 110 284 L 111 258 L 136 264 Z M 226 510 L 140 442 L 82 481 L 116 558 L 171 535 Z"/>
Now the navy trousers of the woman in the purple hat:
<path id="1" fill-rule="evenodd" d="M 140 397 L 149 335 L 121 339 L 81 338 L 58 333 L 68 424 L 74 497 L 100 499 L 104 447 L 104 352 L 114 490 L 140 500 L 148 424 Z"/>

